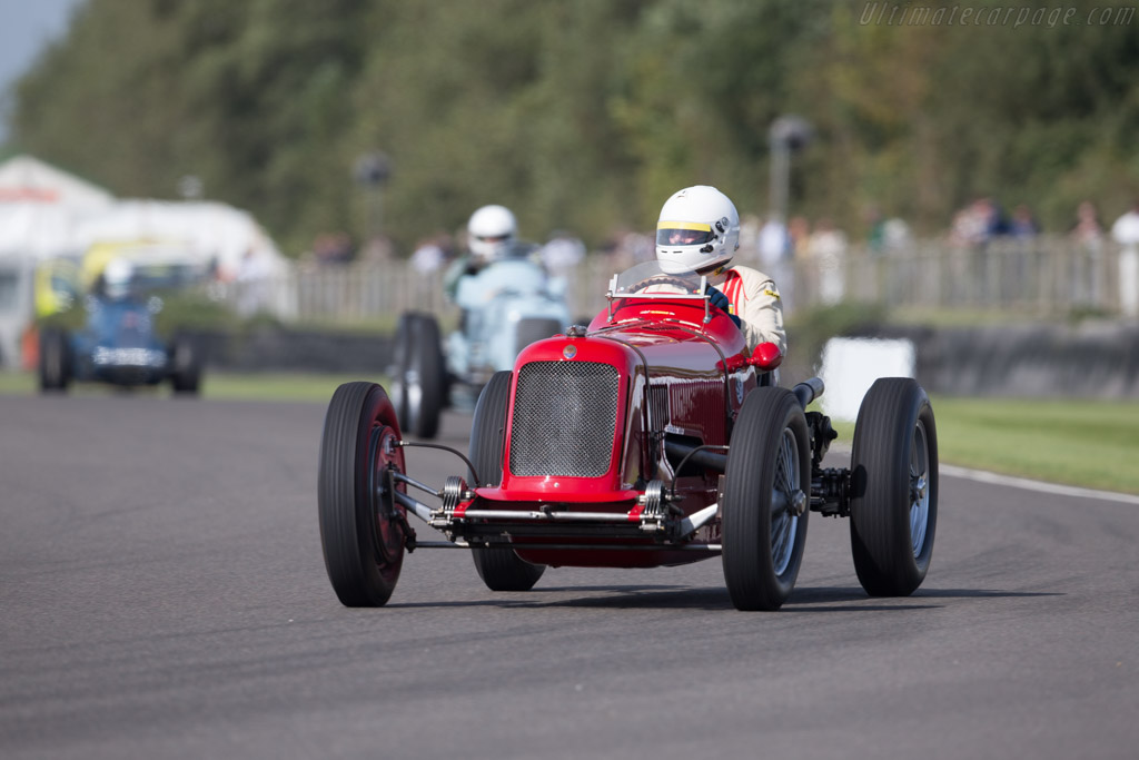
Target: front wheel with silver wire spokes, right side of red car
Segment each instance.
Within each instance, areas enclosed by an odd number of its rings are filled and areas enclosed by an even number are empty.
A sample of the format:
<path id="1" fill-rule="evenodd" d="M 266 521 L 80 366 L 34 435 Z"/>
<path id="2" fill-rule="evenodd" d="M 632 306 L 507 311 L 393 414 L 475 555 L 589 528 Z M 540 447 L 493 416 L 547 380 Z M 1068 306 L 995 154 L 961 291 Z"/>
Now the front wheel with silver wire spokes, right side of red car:
<path id="1" fill-rule="evenodd" d="M 724 472 L 723 577 L 737 610 L 778 610 L 798 577 L 810 515 L 811 447 L 795 394 L 744 400 Z"/>

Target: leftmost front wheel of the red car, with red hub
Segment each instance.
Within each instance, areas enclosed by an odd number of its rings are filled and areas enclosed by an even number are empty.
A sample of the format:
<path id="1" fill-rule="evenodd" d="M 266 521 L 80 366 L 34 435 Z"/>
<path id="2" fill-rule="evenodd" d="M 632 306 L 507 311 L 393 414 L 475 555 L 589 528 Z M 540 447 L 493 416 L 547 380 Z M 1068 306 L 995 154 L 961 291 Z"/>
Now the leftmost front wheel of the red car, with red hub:
<path id="1" fill-rule="evenodd" d="M 378 607 L 395 589 L 403 565 L 403 507 L 385 476 L 405 472 L 395 409 L 375 383 L 336 389 L 320 439 L 317 501 L 328 580 L 346 607 Z M 398 487 L 403 490 L 404 487 Z"/>

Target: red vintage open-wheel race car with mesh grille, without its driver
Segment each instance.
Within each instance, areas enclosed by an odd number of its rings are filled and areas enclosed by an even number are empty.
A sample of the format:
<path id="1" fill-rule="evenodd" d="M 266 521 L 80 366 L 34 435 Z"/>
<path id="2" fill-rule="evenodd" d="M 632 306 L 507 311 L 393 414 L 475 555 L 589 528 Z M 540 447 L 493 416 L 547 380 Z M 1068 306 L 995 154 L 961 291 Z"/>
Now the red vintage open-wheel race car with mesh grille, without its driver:
<path id="1" fill-rule="evenodd" d="M 811 512 L 850 517 L 874 596 L 924 580 L 937 517 L 933 409 L 911 378 L 862 401 L 850 468 L 823 468 L 835 432 L 806 411 L 811 378 L 778 385 L 773 344 L 752 353 L 706 283 L 656 262 L 615 276 L 589 327 L 531 344 L 475 408 L 465 475 L 407 474 L 384 389 L 346 383 L 325 419 L 318 500 L 325 565 L 346 606 L 390 598 L 405 551 L 467 547 L 493 590 L 547 566 L 653 567 L 720 556 L 732 604 L 777 610 L 798 575 Z M 413 493 L 431 495 L 424 504 Z M 446 541 L 417 541 L 415 515 Z"/>

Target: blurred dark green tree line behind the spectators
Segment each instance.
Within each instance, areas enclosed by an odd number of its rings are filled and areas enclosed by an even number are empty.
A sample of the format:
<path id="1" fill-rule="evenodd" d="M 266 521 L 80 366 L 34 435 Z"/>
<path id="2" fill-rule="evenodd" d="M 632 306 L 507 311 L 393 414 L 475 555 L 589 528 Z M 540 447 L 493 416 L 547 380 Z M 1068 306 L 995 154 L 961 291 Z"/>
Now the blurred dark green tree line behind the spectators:
<path id="1" fill-rule="evenodd" d="M 1081 201 L 1139 195 L 1139 19 L 1024 7 L 88 0 L 18 82 L 8 150 L 126 197 L 197 177 L 290 253 L 369 224 L 405 253 L 485 203 L 598 246 L 697 182 L 762 214 L 768 129 L 797 114 L 795 213 L 937 232 L 984 195 L 1062 231 Z M 354 167 L 376 153 L 391 172 L 369 193 Z"/>

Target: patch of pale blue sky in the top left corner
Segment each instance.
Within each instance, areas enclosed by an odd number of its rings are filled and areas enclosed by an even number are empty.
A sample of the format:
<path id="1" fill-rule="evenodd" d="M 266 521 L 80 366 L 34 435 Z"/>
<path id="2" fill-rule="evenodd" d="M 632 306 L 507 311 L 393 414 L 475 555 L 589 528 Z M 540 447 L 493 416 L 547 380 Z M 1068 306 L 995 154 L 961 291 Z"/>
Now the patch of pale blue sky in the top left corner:
<path id="1" fill-rule="evenodd" d="M 52 40 L 67 31 L 72 10 L 85 0 L 0 0 L 0 99 Z M 0 109 L 0 144 L 8 125 Z"/>

